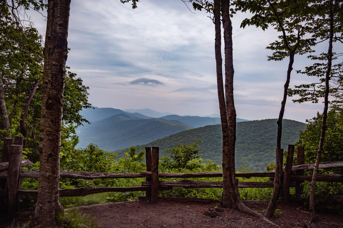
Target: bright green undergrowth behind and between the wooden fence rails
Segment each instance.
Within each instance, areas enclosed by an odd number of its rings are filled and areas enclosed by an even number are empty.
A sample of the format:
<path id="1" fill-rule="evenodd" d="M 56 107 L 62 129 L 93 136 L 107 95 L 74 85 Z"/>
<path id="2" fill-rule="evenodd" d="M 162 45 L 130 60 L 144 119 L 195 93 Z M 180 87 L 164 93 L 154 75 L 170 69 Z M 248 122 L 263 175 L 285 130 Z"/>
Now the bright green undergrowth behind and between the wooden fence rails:
<path id="1" fill-rule="evenodd" d="M 182 148 L 187 148 L 185 145 L 178 145 Z M 192 145 L 194 149 L 194 145 Z M 182 149 L 181 148 L 181 149 Z M 136 155 L 134 147 L 126 153 L 125 158 L 116 160 L 116 155 L 109 154 L 91 144 L 86 149 L 80 149 L 79 153 L 70 153 L 63 150 L 61 155 L 61 170 L 68 171 L 86 171 L 86 172 L 104 172 L 104 173 L 139 173 L 141 170 L 146 170 L 144 161 L 145 151 L 141 151 Z M 89 157 L 92 157 L 90 159 Z M 68 160 L 67 160 L 68 159 Z M 183 163 L 182 163 L 183 164 Z M 38 170 L 39 164 L 35 163 L 29 167 L 23 167 L 23 170 Z M 171 160 L 168 157 L 159 159 L 159 172 L 169 173 L 198 173 L 198 172 L 222 172 L 221 165 L 211 160 L 203 161 L 200 157 L 193 159 L 181 165 Z M 240 166 L 237 173 L 251 172 L 248 167 Z M 189 178 L 194 181 L 221 182 L 222 177 L 216 178 Z M 160 180 L 178 181 L 181 178 L 160 178 Z M 269 177 L 238 177 L 239 182 L 269 182 Z M 60 189 L 66 188 L 83 188 L 83 187 L 129 187 L 141 186 L 145 178 L 116 178 L 116 179 L 72 179 L 61 178 Z M 34 190 L 38 189 L 38 180 L 33 178 L 23 179 L 21 189 Z M 240 198 L 242 200 L 270 200 L 273 188 L 239 188 Z M 160 197 L 191 197 L 191 198 L 206 198 L 220 200 L 222 197 L 222 188 L 190 188 L 174 187 L 173 190 L 159 191 Z M 294 194 L 295 189 L 290 188 L 290 194 Z M 343 195 L 342 183 L 326 183 L 317 182 L 316 187 L 316 205 L 318 207 L 331 208 L 342 213 L 343 206 L 335 204 L 328 200 L 328 195 Z M 88 195 L 85 197 L 61 197 L 60 202 L 64 207 L 77 207 L 91 204 L 104 204 L 121 201 L 137 200 L 138 197 L 145 196 L 145 192 L 105 192 Z M 304 183 L 303 201 L 308 202 L 309 183 Z M 36 197 L 21 196 L 23 200 L 21 209 L 32 210 Z M 295 199 L 294 199 L 295 200 Z"/>

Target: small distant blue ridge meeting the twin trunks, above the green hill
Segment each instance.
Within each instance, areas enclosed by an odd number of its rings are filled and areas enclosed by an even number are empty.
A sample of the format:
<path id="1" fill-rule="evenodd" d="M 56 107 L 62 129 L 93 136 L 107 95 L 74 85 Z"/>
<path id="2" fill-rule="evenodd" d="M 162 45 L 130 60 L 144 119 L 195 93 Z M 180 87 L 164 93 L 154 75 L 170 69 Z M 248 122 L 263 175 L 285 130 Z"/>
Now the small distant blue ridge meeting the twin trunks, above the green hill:
<path id="1" fill-rule="evenodd" d="M 190 125 L 193 128 L 200 128 L 206 125 L 215 125 L 215 124 L 221 123 L 220 118 L 217 118 L 217 117 L 213 118 L 213 117 L 200 117 L 200 116 L 168 115 L 168 116 L 163 116 L 161 118 L 165 120 L 176 120 L 181 123 Z M 240 121 L 247 121 L 247 120 L 237 118 L 236 121 L 240 122 Z"/>

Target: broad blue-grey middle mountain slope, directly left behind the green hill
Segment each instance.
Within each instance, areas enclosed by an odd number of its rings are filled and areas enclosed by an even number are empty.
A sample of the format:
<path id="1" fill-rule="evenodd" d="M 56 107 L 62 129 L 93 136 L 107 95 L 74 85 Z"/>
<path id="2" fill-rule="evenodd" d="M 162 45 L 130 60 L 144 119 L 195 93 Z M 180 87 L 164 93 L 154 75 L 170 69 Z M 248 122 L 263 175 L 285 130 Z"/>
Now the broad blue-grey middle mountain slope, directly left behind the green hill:
<path id="1" fill-rule="evenodd" d="M 119 114 L 78 128 L 80 139 L 78 147 L 90 143 L 97 144 L 104 150 L 115 150 L 131 145 L 151 142 L 181 131 L 192 129 L 178 121 L 164 119 L 139 119 L 126 114 Z"/>

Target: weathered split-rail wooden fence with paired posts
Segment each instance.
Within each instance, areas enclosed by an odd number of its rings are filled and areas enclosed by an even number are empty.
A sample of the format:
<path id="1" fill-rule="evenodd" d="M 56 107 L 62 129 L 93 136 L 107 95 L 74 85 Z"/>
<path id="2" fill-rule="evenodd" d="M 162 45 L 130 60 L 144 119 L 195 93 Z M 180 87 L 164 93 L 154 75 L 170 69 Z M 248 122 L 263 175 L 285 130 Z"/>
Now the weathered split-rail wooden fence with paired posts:
<path id="1" fill-rule="evenodd" d="M 19 195 L 37 196 L 38 190 L 20 190 L 22 178 L 39 178 L 39 171 L 22 171 L 21 167 L 31 165 L 28 160 L 21 160 L 22 158 L 22 143 L 23 137 L 16 136 L 12 145 L 13 139 L 4 139 L 3 148 L 3 162 L 0 163 L 0 210 L 8 213 L 9 217 L 14 217 L 15 212 L 19 208 Z M 60 171 L 60 177 L 64 178 L 82 178 L 82 179 L 96 179 L 96 178 L 141 178 L 146 180 L 142 182 L 142 186 L 133 187 L 98 187 L 98 188 L 75 188 L 75 189 L 60 189 L 61 197 L 69 196 L 86 196 L 93 193 L 100 192 L 129 192 L 129 191 L 145 191 L 146 197 L 150 199 L 151 203 L 156 203 L 158 198 L 158 191 L 171 190 L 173 187 L 184 188 L 221 188 L 223 182 L 199 182 L 187 180 L 187 178 L 199 177 L 222 177 L 222 173 L 161 173 L 158 172 L 159 148 L 145 147 L 146 151 L 146 171 L 140 173 L 92 173 L 92 172 L 70 172 Z M 300 197 L 303 191 L 301 183 L 304 180 L 311 180 L 312 176 L 304 175 L 304 170 L 314 169 L 314 164 L 304 164 L 305 155 L 304 147 L 297 148 L 297 165 L 292 166 L 294 145 L 289 145 L 288 155 L 286 159 L 286 166 L 283 169 L 283 186 L 280 196 L 285 203 L 289 199 L 289 188 L 296 188 L 296 196 Z M 320 163 L 319 168 L 343 167 L 343 161 Z M 265 173 L 236 173 L 236 177 L 270 177 L 272 180 L 274 172 Z M 180 181 L 160 181 L 159 178 L 183 178 Z M 343 175 L 330 174 L 318 175 L 317 181 L 324 182 L 339 182 L 343 183 Z M 238 188 L 268 188 L 273 187 L 273 182 L 237 182 Z M 4 197 L 3 197 L 4 196 Z M 331 196 L 333 200 L 343 202 L 342 196 Z M 1 202 L 2 201 L 2 202 Z"/>

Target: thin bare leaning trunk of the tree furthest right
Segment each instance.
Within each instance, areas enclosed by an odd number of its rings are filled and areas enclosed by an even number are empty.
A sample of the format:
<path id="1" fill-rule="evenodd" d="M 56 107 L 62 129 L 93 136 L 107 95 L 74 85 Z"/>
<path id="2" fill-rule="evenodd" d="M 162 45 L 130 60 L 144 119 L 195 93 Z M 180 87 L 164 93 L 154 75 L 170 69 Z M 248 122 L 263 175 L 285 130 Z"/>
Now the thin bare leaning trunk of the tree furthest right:
<path id="1" fill-rule="evenodd" d="M 326 131 L 326 120 L 328 117 L 328 106 L 329 106 L 329 81 L 330 81 L 330 72 L 331 72 L 331 64 L 332 64 L 332 39 L 333 39 L 333 9 L 332 9 L 332 1 L 330 1 L 330 38 L 329 38 L 329 50 L 328 50 L 328 69 L 325 74 L 325 95 L 324 95 L 324 110 L 323 110 L 323 119 L 322 119 L 322 128 L 320 133 L 320 140 L 319 140 L 319 147 L 318 153 L 315 163 L 315 169 L 313 170 L 312 181 L 311 181 L 311 189 L 310 189 L 310 212 L 311 212 L 311 223 L 318 222 L 318 216 L 315 211 L 315 188 L 316 188 L 316 180 L 318 175 L 318 166 L 320 162 L 320 157 L 323 152 L 323 145 L 324 145 L 324 138 L 325 138 L 325 131 Z"/>

